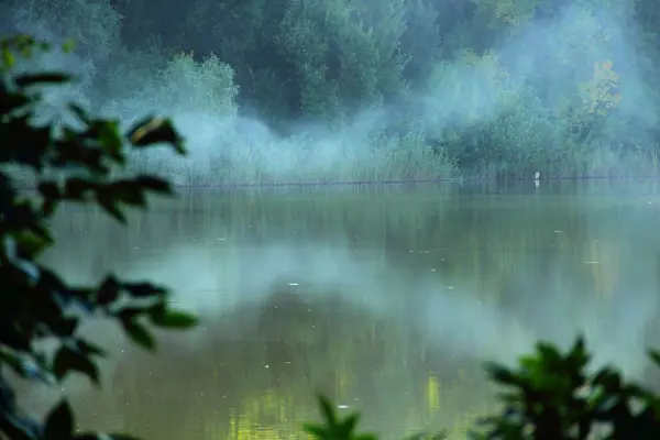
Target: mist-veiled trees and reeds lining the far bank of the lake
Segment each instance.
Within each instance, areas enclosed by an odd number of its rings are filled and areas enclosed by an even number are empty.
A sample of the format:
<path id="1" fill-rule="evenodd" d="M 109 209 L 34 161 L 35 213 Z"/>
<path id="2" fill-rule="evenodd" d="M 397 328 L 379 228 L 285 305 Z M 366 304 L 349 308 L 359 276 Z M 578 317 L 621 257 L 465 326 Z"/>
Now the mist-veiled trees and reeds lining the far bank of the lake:
<path id="1" fill-rule="evenodd" d="M 76 90 L 96 108 L 195 112 L 215 161 L 186 182 L 657 172 L 652 0 L 14 7 L 16 28 L 81 42 Z"/>

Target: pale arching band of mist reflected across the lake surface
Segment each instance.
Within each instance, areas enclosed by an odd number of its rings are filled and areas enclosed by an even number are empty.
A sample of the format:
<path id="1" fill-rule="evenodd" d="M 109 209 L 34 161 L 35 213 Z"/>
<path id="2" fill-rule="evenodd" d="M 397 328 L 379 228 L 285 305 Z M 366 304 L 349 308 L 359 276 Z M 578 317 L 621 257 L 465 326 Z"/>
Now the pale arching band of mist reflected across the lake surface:
<path id="1" fill-rule="evenodd" d="M 350 246 L 337 242 L 258 248 L 234 248 L 231 242 L 216 248 L 209 242 L 212 239 L 177 244 L 144 261 L 135 257 L 130 264 L 110 264 L 128 279 L 167 285 L 176 307 L 199 316 L 199 329 L 164 337 L 169 340 L 166 343 L 185 344 L 187 351 L 202 353 L 217 338 L 209 330 L 217 322 L 245 308 L 258 308 L 273 294 L 287 290 L 300 295 L 310 307 L 317 307 L 320 298 L 339 295 L 343 304 L 364 314 L 420 331 L 433 350 L 461 362 L 510 364 L 529 353 L 539 339 L 568 348 L 582 333 L 595 354 L 594 366 L 613 363 L 627 376 L 640 377 L 647 365 L 647 326 L 658 319 L 658 299 L 651 286 L 605 307 L 602 298 L 584 290 L 558 293 L 537 286 L 520 292 L 519 300 L 502 308 L 475 296 L 468 279 L 443 280 L 431 274 L 402 272 L 380 257 L 370 258 L 369 253 L 359 257 Z M 527 295 L 535 299 L 526 300 Z M 96 333 L 97 338 L 113 346 L 112 358 L 103 362 L 108 367 L 121 360 L 129 346 L 117 336 L 106 340 Z"/>

